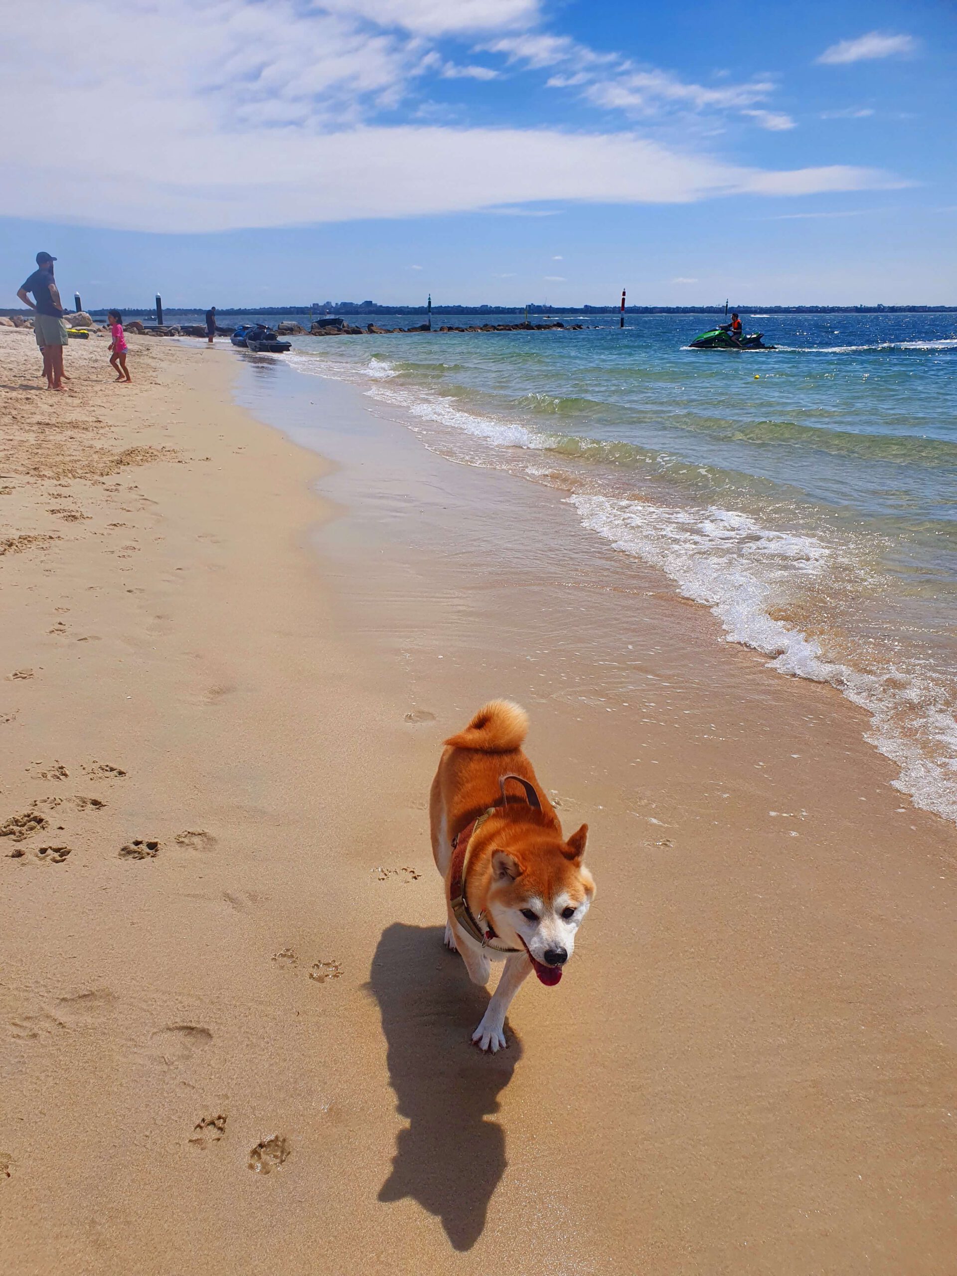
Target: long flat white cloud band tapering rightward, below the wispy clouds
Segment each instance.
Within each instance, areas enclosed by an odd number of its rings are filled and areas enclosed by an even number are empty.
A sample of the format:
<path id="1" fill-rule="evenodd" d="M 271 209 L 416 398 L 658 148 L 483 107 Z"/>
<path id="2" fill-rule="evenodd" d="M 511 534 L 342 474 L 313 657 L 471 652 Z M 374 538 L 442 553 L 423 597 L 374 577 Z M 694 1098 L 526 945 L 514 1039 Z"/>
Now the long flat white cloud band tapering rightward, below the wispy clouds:
<path id="1" fill-rule="evenodd" d="M 54 137 L 66 105 L 45 102 L 37 111 L 36 101 L 33 124 Z M 161 119 L 140 124 L 139 144 L 119 157 L 108 153 L 103 130 L 75 133 L 59 151 L 47 147 L 40 162 L 32 134 L 8 135 L 0 144 L 20 180 L 19 216 L 50 219 L 63 209 L 70 222 L 216 231 L 453 213 L 503 199 L 689 203 L 900 185 L 869 168 L 738 167 L 632 134 L 413 126 L 231 134 L 174 133 Z"/>

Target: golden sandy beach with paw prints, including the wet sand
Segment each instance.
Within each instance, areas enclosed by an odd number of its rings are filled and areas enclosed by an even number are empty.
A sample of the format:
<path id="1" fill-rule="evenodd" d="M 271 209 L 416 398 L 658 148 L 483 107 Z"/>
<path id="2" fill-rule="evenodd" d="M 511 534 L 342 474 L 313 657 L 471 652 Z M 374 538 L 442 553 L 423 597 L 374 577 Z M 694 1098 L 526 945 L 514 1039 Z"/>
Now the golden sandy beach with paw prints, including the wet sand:
<path id="1" fill-rule="evenodd" d="M 353 387 L 130 348 L 0 329 L 8 1268 L 952 1272 L 957 833 L 865 715 Z M 496 1057 L 427 838 L 490 695 L 598 886 Z"/>

